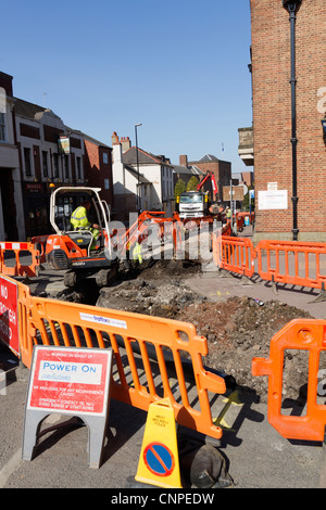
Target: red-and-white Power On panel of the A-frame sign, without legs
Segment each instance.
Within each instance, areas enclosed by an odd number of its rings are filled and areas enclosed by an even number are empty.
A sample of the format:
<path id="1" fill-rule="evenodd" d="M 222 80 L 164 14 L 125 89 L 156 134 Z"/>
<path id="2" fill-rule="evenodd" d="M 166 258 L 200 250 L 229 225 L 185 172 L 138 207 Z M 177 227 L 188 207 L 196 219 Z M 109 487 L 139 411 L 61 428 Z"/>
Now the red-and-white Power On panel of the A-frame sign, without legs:
<path id="1" fill-rule="evenodd" d="M 35 346 L 27 408 L 104 416 L 109 349 Z"/>

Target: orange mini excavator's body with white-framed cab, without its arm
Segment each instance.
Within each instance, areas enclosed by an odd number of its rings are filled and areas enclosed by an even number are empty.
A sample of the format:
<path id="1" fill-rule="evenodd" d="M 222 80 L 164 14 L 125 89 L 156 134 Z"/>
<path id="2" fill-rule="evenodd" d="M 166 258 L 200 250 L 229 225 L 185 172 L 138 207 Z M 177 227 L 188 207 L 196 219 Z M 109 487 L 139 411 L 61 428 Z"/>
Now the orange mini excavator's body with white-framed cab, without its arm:
<path id="1" fill-rule="evenodd" d="M 104 286 L 112 276 L 110 208 L 100 199 L 100 191 L 99 188 L 62 187 L 51 195 L 50 222 L 54 233 L 48 237 L 46 256 L 52 269 L 67 270 L 66 286 L 74 286 L 82 277 L 91 275 L 96 275 L 99 286 Z M 87 213 L 89 222 L 99 226 L 97 239 L 91 229 L 74 230 L 71 224 L 73 212 L 85 201 L 91 204 Z"/>

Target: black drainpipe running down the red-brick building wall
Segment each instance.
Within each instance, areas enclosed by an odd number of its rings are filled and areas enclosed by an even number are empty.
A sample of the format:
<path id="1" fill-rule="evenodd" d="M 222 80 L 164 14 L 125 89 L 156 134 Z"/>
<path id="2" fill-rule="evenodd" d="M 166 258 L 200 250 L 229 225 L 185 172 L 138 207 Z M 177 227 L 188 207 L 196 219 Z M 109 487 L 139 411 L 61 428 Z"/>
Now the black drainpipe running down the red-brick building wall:
<path id="1" fill-rule="evenodd" d="M 297 106 L 296 106 L 296 20 L 297 12 L 301 5 L 302 0 L 283 0 L 283 7 L 288 11 L 290 17 L 290 29 L 291 29 L 291 124 L 292 124 L 292 211 L 293 211 L 293 228 L 292 235 L 293 241 L 298 241 L 298 200 L 297 196 Z"/>

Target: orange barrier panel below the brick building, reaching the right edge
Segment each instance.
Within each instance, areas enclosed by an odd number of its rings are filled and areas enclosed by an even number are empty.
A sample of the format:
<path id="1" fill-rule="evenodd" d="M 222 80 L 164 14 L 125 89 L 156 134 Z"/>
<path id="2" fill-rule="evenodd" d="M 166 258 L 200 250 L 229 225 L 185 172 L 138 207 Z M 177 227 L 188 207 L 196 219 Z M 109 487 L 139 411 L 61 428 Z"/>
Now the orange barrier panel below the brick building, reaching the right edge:
<path id="1" fill-rule="evenodd" d="M 263 280 L 323 289 L 326 282 L 326 243 L 260 241 L 255 247 Z M 264 257 L 264 252 L 266 257 Z M 293 257 L 290 264 L 289 257 Z M 324 256 L 324 273 L 321 257 Z M 274 266 L 272 267 L 272 259 Z M 266 265 L 264 269 L 263 265 Z M 293 272 L 291 273 L 291 269 Z"/>

